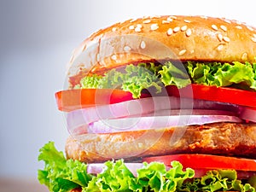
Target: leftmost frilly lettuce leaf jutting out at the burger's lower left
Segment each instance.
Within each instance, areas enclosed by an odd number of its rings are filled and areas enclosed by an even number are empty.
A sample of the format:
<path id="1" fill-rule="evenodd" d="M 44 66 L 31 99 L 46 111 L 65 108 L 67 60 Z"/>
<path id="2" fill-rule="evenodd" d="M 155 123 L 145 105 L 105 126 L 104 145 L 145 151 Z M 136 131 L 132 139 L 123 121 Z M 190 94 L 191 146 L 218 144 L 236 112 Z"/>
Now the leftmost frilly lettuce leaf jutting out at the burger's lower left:
<path id="1" fill-rule="evenodd" d="M 66 160 L 52 142 L 40 149 L 38 160 L 43 160 L 45 165 L 44 170 L 38 170 L 38 181 L 48 186 L 50 191 L 66 192 L 87 186 L 92 178 L 87 174 L 86 164 L 79 160 Z"/>

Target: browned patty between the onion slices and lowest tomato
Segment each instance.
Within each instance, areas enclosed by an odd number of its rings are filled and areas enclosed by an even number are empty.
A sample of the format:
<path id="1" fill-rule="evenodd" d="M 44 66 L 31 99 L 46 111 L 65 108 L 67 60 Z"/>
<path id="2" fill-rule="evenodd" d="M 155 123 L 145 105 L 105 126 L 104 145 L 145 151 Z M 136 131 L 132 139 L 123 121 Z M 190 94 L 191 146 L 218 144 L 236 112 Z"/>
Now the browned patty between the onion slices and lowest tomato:
<path id="1" fill-rule="evenodd" d="M 219 154 L 256 158 L 256 125 L 217 123 L 161 130 L 84 134 L 67 138 L 67 158 L 87 163 L 140 161 L 165 154 Z"/>

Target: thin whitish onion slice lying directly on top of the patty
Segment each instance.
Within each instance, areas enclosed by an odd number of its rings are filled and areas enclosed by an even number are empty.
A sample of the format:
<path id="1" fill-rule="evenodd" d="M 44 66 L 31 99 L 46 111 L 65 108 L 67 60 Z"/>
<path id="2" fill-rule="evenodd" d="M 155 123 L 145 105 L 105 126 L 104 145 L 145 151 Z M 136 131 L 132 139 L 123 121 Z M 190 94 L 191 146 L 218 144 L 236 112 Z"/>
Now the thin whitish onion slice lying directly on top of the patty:
<path id="1" fill-rule="evenodd" d="M 220 122 L 241 123 L 241 119 L 229 115 L 172 115 L 124 119 L 105 119 L 91 123 L 89 133 L 113 133 L 122 131 L 138 131 L 163 129 L 186 125 L 204 125 Z"/>

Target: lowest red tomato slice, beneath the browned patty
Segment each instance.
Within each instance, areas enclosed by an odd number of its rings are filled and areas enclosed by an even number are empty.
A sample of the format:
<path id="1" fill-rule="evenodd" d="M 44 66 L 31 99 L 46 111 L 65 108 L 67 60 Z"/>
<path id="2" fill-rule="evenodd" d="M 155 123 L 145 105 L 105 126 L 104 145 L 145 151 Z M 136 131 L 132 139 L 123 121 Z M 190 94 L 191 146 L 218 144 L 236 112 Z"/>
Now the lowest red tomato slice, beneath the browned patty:
<path id="1" fill-rule="evenodd" d="M 159 161 L 171 166 L 172 160 L 179 161 L 184 168 L 192 169 L 233 169 L 236 171 L 256 171 L 256 160 L 226 157 L 211 154 L 171 154 L 165 156 L 146 157 L 143 161 Z"/>

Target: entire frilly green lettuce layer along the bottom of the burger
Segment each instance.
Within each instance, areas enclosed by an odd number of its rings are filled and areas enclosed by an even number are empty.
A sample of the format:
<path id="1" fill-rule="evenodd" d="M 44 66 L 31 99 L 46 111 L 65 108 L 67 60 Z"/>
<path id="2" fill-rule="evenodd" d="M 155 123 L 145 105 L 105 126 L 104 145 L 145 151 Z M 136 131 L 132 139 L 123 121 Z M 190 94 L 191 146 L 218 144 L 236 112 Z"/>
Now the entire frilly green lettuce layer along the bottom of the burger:
<path id="1" fill-rule="evenodd" d="M 143 163 L 137 169 L 137 177 L 125 166 L 124 160 L 105 163 L 101 173 L 87 173 L 87 165 L 78 160 L 66 160 L 63 153 L 49 142 L 40 150 L 38 160 L 44 161 L 44 170 L 38 170 L 38 180 L 49 191 L 67 192 L 81 188 L 83 192 L 167 192 L 167 191 L 224 191 L 255 192 L 255 177 L 243 183 L 237 179 L 236 171 L 213 170 L 201 178 L 195 171 L 183 169 L 177 161 L 167 169 L 163 163 Z M 251 185 L 252 184 L 252 185 Z"/>

